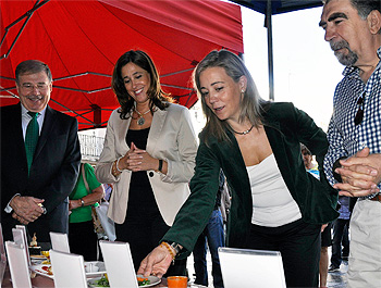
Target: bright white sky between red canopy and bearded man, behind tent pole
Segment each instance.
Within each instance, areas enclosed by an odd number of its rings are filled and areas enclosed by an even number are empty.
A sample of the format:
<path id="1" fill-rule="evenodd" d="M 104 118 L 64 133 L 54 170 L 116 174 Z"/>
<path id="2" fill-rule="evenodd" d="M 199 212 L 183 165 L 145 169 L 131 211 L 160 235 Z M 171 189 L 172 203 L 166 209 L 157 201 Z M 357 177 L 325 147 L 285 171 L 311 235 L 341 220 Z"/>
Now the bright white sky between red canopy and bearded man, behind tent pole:
<path id="1" fill-rule="evenodd" d="M 244 60 L 263 99 L 269 99 L 265 15 L 241 8 Z M 272 16 L 274 101 L 293 102 L 327 132 L 335 86 L 344 66 L 324 41 L 319 27 L 322 8 Z"/>

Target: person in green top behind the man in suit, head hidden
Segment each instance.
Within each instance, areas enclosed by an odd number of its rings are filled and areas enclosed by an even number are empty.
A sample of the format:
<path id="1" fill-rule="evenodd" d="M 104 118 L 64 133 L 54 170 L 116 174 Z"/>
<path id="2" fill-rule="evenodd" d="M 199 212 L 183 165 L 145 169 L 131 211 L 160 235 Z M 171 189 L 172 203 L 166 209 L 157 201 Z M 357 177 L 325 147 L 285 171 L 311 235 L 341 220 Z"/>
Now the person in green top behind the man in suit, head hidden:
<path id="1" fill-rule="evenodd" d="M 94 167 L 81 164 L 78 179 L 69 196 L 70 251 L 84 256 L 85 261 L 98 260 L 98 236 L 94 230 L 91 205 L 105 196 L 103 186 L 97 180 Z"/>

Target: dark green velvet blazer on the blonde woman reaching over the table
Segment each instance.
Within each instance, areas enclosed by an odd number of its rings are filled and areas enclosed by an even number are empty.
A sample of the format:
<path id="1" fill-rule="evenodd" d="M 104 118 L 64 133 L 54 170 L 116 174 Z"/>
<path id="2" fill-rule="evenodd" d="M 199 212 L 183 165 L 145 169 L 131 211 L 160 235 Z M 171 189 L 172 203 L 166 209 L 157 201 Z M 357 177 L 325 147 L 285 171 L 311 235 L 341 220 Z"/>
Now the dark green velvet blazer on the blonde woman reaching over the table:
<path id="1" fill-rule="evenodd" d="M 292 103 L 266 103 L 263 126 L 283 179 L 299 206 L 303 220 L 311 224 L 325 224 L 339 216 L 335 211 L 337 191 L 327 181 L 322 171 L 328 150 L 325 133 L 311 117 Z M 208 146 L 202 141 L 197 151 L 195 175 L 190 180 L 190 196 L 176 215 L 172 228 L 163 240 L 174 241 L 193 250 L 213 210 L 219 185 L 219 171 L 223 170 L 232 196 L 228 220 L 226 246 L 245 248 L 251 224 L 251 189 L 238 143 L 231 132 L 231 141 L 218 141 L 211 136 Z M 320 180 L 306 172 L 300 142 L 316 155 Z M 186 254 L 185 253 L 185 254 Z"/>

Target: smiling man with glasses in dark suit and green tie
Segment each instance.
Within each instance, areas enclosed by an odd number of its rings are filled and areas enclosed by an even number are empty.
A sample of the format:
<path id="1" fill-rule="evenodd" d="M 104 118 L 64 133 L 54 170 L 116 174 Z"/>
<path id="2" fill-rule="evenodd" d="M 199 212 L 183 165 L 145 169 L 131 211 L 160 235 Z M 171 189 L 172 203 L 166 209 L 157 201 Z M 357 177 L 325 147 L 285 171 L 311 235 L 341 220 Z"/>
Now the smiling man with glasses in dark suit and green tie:
<path id="1" fill-rule="evenodd" d="M 81 163 L 77 121 L 48 107 L 48 65 L 24 61 L 15 77 L 20 103 L 0 109 L 1 224 L 5 240 L 24 224 L 29 237 L 48 243 L 49 231 L 67 233 L 67 196 Z"/>

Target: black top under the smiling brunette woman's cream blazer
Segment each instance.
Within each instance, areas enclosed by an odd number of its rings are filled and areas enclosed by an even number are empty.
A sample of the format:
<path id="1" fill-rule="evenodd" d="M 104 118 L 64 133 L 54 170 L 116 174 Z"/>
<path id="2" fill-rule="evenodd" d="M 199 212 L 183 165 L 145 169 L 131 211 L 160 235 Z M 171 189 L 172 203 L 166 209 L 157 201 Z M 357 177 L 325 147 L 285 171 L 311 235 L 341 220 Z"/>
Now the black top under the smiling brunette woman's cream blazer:
<path id="1" fill-rule="evenodd" d="M 142 130 L 128 129 L 126 143 L 131 142 L 139 149 L 146 150 L 149 128 Z M 153 191 L 149 183 L 147 172 L 133 172 L 130 183 L 130 195 L 127 204 L 127 220 L 147 218 L 160 215 L 159 208 L 156 203 Z"/>

